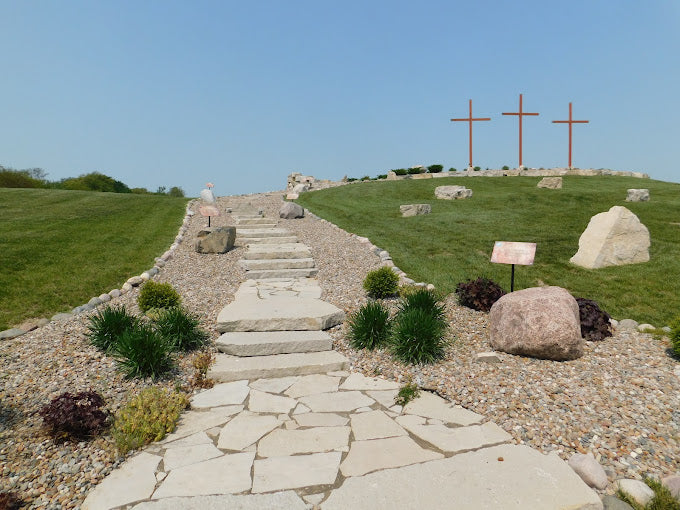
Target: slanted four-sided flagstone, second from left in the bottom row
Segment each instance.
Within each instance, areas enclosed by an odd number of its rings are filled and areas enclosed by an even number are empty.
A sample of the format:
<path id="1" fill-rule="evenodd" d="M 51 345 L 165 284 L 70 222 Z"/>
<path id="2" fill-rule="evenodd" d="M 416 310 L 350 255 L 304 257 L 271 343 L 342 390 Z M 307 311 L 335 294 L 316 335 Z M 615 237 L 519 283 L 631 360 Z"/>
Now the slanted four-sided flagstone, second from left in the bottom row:
<path id="1" fill-rule="evenodd" d="M 170 471 L 154 492 L 153 499 L 234 494 L 248 490 L 254 458 L 252 452 L 234 453 Z"/>

